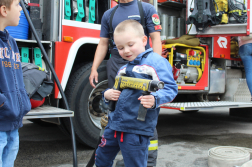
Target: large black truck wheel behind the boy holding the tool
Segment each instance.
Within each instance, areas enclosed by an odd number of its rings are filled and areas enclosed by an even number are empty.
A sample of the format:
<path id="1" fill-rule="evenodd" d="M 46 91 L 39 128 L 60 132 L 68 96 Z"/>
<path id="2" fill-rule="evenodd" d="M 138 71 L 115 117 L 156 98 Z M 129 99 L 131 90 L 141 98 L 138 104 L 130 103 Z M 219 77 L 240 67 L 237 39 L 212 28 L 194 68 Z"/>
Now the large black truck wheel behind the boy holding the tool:
<path id="1" fill-rule="evenodd" d="M 74 72 L 66 87 L 69 107 L 74 111 L 73 124 L 76 139 L 82 144 L 95 147 L 100 133 L 100 118 L 104 115 L 101 92 L 107 89 L 106 61 L 98 68 L 98 81 L 94 89 L 89 84 L 92 63 L 88 63 Z M 70 131 L 69 119 L 63 123 Z"/>

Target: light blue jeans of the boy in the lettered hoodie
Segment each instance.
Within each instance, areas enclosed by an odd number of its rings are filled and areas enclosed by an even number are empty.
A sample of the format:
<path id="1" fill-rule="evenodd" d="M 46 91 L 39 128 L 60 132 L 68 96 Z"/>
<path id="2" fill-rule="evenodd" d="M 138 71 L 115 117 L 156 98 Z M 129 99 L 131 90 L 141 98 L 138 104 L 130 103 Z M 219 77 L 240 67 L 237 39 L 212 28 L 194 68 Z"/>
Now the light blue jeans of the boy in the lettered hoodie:
<path id="1" fill-rule="evenodd" d="M 18 149 L 18 129 L 0 132 L 0 167 L 13 167 Z"/>

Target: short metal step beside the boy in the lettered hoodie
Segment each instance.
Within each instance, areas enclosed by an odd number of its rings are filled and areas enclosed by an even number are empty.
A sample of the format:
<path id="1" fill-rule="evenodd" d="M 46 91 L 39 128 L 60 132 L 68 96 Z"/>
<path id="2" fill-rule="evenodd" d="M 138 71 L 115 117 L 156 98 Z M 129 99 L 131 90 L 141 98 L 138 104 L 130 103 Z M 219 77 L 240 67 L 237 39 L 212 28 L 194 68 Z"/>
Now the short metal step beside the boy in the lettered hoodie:
<path id="1" fill-rule="evenodd" d="M 29 111 L 24 119 L 73 117 L 74 112 L 52 106 L 37 107 Z"/>

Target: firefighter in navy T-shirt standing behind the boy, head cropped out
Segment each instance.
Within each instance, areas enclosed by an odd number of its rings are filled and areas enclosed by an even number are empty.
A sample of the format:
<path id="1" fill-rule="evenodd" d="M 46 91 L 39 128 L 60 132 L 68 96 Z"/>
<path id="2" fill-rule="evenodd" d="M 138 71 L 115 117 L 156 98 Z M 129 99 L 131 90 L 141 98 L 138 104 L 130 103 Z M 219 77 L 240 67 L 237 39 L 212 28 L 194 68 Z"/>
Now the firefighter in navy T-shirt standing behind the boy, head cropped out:
<path id="1" fill-rule="evenodd" d="M 142 16 L 142 17 L 141 17 Z M 142 20 L 141 20 L 142 18 Z M 122 59 L 113 42 L 113 30 L 122 21 L 134 19 L 140 22 L 144 28 L 145 35 L 151 38 L 153 51 L 161 55 L 162 44 L 160 38 L 161 25 L 159 16 L 155 8 L 145 2 L 137 0 L 119 0 L 119 4 L 107 10 L 101 21 L 100 42 L 97 46 L 89 81 L 92 87 L 95 88 L 93 80 L 98 83 L 97 69 L 101 62 L 106 57 L 108 48 L 111 58 L 107 62 L 108 86 L 112 88 L 117 71 L 121 66 L 127 63 Z M 150 48 L 149 40 L 146 49 Z M 148 166 L 156 166 L 157 150 L 158 150 L 158 135 L 155 129 L 154 136 L 150 138 L 150 146 L 148 152 Z M 123 161 L 118 161 L 117 166 L 124 166 Z"/>

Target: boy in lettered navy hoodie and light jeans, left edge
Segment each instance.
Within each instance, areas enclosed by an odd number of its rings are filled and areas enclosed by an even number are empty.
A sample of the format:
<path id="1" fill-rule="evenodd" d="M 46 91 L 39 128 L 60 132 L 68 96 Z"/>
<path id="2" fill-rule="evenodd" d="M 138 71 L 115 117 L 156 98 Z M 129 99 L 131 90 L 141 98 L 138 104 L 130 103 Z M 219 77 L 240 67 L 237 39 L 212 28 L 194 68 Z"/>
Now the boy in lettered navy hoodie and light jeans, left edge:
<path id="1" fill-rule="evenodd" d="M 19 0 L 0 0 L 0 166 L 14 166 L 18 149 L 18 129 L 31 104 L 26 93 L 16 41 L 5 30 L 17 26 Z"/>

